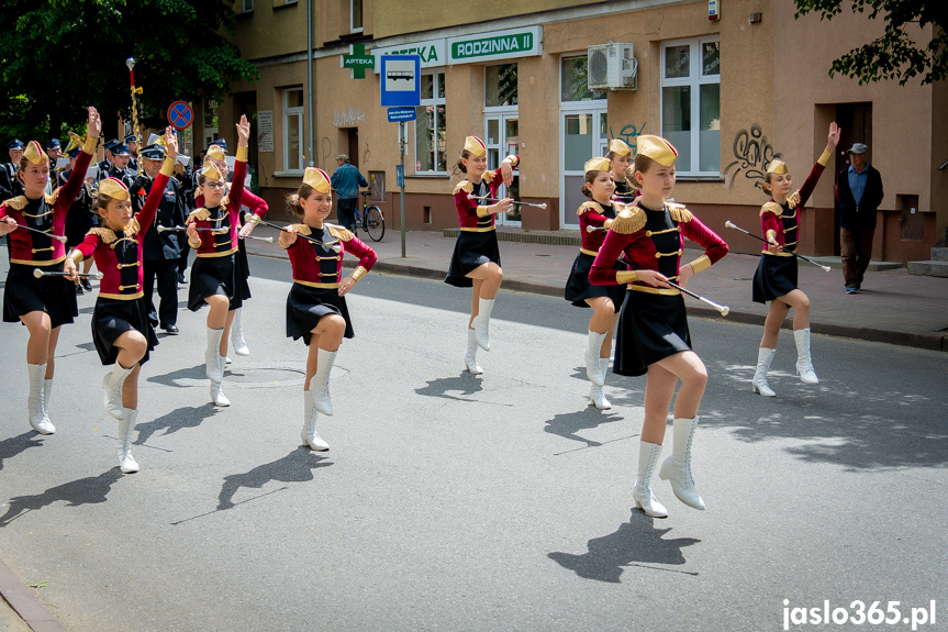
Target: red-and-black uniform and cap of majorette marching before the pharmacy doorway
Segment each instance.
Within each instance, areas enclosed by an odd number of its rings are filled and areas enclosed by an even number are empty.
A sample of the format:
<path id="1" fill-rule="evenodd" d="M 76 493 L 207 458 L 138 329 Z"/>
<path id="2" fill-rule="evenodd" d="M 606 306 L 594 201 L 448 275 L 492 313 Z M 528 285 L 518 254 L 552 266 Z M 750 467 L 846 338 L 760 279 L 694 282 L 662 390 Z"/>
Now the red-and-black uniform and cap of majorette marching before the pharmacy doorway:
<path id="1" fill-rule="evenodd" d="M 469 148 L 470 138 L 465 143 L 465 149 Z M 476 138 L 481 143 L 479 138 Z M 482 143 L 476 151 L 486 152 L 482 148 Z M 473 152 L 472 152 L 473 153 Z M 511 167 L 516 168 L 520 164 L 520 156 L 509 156 L 512 160 Z M 458 221 L 460 223 L 460 234 L 455 243 L 454 255 L 451 255 L 448 274 L 445 277 L 445 282 L 459 288 L 469 288 L 473 286 L 473 280 L 466 275 L 476 270 L 478 267 L 488 264 L 500 264 L 500 248 L 498 247 L 497 232 L 494 225 L 493 213 L 488 212 L 490 202 L 478 203 L 478 200 L 472 200 L 468 196 L 473 196 L 481 200 L 497 198 L 498 189 L 503 184 L 501 169 L 493 171 L 484 171 L 480 182 L 475 185 L 470 180 L 461 180 L 455 187 L 455 207 L 458 211 Z"/>

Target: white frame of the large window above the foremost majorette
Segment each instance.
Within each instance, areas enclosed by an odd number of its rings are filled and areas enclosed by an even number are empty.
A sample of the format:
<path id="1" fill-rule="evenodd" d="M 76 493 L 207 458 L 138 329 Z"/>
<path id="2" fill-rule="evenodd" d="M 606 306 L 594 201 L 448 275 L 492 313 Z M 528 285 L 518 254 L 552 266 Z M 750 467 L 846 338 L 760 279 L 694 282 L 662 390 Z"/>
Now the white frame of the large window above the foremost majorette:
<path id="1" fill-rule="evenodd" d="M 670 40 L 668 42 L 661 43 L 661 58 L 660 58 L 660 70 L 659 78 L 661 87 L 659 89 L 659 112 L 661 115 L 665 115 L 665 88 L 672 88 L 677 86 L 689 86 L 691 87 L 691 160 L 692 164 L 682 165 L 680 163 L 676 163 L 676 175 L 678 177 L 694 177 L 694 178 L 721 178 L 721 164 L 718 162 L 718 167 L 716 171 L 702 171 L 701 169 L 701 141 L 700 141 L 700 131 L 701 131 L 701 86 L 706 84 L 721 84 L 721 69 L 718 69 L 717 75 L 709 75 L 702 76 L 701 74 L 701 54 L 702 54 L 702 45 L 710 43 L 721 43 L 721 35 L 707 35 L 705 37 L 691 37 L 688 40 Z M 668 49 L 673 46 L 690 46 L 689 53 L 689 71 L 688 77 L 679 77 L 673 79 L 667 79 L 665 77 L 665 70 L 667 68 L 666 65 L 666 55 Z M 718 102 L 718 107 L 721 103 Z M 659 130 L 665 130 L 665 121 L 661 120 L 659 122 Z M 721 152 L 721 144 L 718 143 L 717 147 L 718 153 Z M 692 168 L 694 167 L 694 168 Z"/>

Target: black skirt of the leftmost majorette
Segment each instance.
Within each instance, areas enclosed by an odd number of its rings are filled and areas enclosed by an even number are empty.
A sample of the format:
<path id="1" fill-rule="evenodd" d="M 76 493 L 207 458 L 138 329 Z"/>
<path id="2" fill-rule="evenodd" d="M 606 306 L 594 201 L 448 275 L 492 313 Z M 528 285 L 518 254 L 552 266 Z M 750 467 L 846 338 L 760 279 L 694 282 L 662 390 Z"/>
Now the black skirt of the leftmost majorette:
<path id="1" fill-rule="evenodd" d="M 76 284 L 63 276 L 33 276 L 35 266 L 10 264 L 3 289 L 3 322 L 22 322 L 20 317 L 32 311 L 49 314 L 53 329 L 69 324 L 79 315 Z M 45 271 L 63 271 L 63 263 L 43 266 Z"/>

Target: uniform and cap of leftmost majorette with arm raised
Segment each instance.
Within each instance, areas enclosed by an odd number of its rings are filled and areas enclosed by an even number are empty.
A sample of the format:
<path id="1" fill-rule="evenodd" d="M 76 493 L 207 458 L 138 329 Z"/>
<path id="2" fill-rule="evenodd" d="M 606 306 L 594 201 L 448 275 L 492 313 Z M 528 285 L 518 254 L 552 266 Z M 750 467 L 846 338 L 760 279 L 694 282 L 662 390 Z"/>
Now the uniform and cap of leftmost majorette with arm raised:
<path id="1" fill-rule="evenodd" d="M 76 159 L 76 168 L 64 187 L 35 200 L 25 196 L 7 200 L 0 204 L 0 219 L 11 218 L 21 226 L 64 236 L 66 215 L 82 188 L 86 169 L 98 142 L 98 138 L 86 138 Z M 48 160 L 36 141 L 30 141 L 24 156 L 36 165 Z M 22 315 L 44 311 L 49 314 L 53 329 L 71 323 L 79 315 L 75 284 L 64 276 L 44 276 L 38 279 L 33 276 L 33 269 L 37 267 L 63 271 L 66 244 L 52 236 L 22 230 L 14 230 L 9 239 L 10 270 L 3 290 L 3 322 L 20 322 Z"/>

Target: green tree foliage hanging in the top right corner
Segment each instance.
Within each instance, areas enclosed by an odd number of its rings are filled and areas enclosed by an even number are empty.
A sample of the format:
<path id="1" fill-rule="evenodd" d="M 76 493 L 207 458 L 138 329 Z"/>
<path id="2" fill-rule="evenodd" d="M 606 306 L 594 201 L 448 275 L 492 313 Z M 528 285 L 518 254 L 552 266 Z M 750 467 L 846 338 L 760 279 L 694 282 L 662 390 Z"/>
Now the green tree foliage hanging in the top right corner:
<path id="1" fill-rule="evenodd" d="M 921 76 L 922 84 L 948 78 L 948 0 L 794 0 L 796 18 L 818 13 L 821 20 L 832 20 L 851 7 L 854 13 L 869 13 L 870 20 L 882 18 L 885 33 L 877 40 L 854 48 L 833 62 L 829 76 L 839 73 L 858 78 L 860 84 L 899 79 L 904 86 Z M 932 40 L 916 43 L 910 27 L 934 26 Z M 915 30 L 915 29 L 913 29 Z"/>

